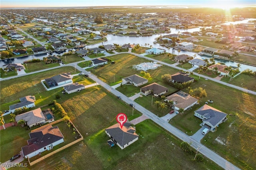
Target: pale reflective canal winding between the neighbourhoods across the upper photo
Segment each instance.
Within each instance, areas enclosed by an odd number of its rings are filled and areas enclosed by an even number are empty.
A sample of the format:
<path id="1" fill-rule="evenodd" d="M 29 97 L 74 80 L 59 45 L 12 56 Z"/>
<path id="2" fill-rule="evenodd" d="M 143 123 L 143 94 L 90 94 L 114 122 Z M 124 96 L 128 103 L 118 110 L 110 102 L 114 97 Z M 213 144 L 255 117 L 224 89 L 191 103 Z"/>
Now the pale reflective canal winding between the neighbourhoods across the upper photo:
<path id="1" fill-rule="evenodd" d="M 246 22 L 248 22 L 249 20 L 252 19 L 248 19 L 245 20 Z M 242 22 L 242 21 L 240 21 Z M 244 23 L 244 22 L 242 22 Z M 180 30 L 180 29 L 175 29 L 175 28 L 171 28 L 171 33 L 168 34 L 178 34 L 179 32 L 195 32 L 195 31 L 200 31 L 200 28 L 192 28 L 192 29 L 187 29 L 187 30 Z M 97 32 L 96 32 L 97 33 Z M 99 34 L 99 33 L 98 33 Z M 161 34 L 162 36 L 166 35 L 165 34 Z M 167 49 L 164 46 L 157 44 L 154 44 L 153 42 L 155 41 L 155 38 L 158 38 L 160 36 L 160 34 L 155 34 L 152 36 L 141 36 L 141 37 L 129 37 L 129 36 L 114 36 L 112 34 L 108 34 L 107 36 L 107 41 L 106 42 L 102 42 L 102 43 L 98 43 L 98 44 L 94 44 L 94 45 L 87 45 L 86 48 L 93 48 L 93 47 L 98 47 L 99 45 L 107 45 L 107 44 L 114 44 L 117 43 L 119 45 L 123 45 L 126 43 L 131 43 L 131 44 L 140 44 L 142 46 L 145 47 L 145 43 L 149 43 L 150 45 L 152 45 L 155 48 L 162 48 L 162 49 L 166 49 L 167 52 L 176 54 L 176 55 L 180 55 L 180 54 L 187 54 L 190 56 L 194 56 L 194 54 L 196 54 L 197 58 L 210 58 L 210 56 L 201 56 L 198 55 L 197 53 L 191 52 L 191 51 L 185 51 L 185 50 L 181 50 L 180 53 L 178 53 L 177 50 L 175 50 L 174 48 L 170 48 Z M 150 45 L 147 45 L 146 47 L 149 47 Z M 66 50 L 68 51 L 68 50 Z M 64 52 L 66 52 L 64 51 Z M 64 53 L 62 52 L 62 53 Z M 29 56 L 25 56 L 25 57 L 18 57 L 18 58 L 11 58 L 11 59 L 4 59 L 0 61 L 0 66 L 2 67 L 2 65 L 5 64 L 10 64 L 10 63 L 23 63 L 24 61 L 27 61 L 29 59 L 43 59 L 43 57 L 47 57 L 49 55 L 49 53 L 43 53 L 43 54 L 36 54 L 36 55 L 29 55 Z M 52 55 L 61 55 L 58 53 L 52 53 Z M 234 61 L 228 61 L 225 59 L 215 59 L 216 63 L 220 62 L 220 63 L 225 63 L 228 66 L 236 66 L 237 62 Z M 243 71 L 245 69 L 251 69 L 253 71 L 256 71 L 256 67 L 251 66 L 251 65 L 246 65 L 246 64 L 241 64 L 241 69 L 240 71 Z"/>

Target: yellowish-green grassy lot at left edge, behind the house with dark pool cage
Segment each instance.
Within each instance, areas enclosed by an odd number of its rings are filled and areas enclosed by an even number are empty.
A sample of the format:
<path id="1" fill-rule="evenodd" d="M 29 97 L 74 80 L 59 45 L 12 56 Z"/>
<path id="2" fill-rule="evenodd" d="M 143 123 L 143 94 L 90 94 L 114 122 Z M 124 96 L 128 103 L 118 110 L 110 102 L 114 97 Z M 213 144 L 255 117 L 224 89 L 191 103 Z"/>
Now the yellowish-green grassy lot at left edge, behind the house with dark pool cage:
<path id="1" fill-rule="evenodd" d="M 61 67 L 58 69 L 44 71 L 44 72 L 36 73 L 33 75 L 18 77 L 16 79 L 1 81 L 1 91 L 0 91 L 1 107 L 2 107 L 2 104 L 17 100 L 20 97 L 24 97 L 26 95 L 36 95 L 38 93 L 42 93 L 46 91 L 41 84 L 42 79 L 46 79 L 54 75 L 57 75 L 60 73 L 66 73 L 66 72 L 70 72 L 71 74 L 74 74 L 75 73 L 74 67 Z M 29 80 L 29 83 L 28 83 L 28 80 Z M 51 93 L 48 93 L 47 95 L 48 97 L 50 97 L 49 95 L 53 95 L 53 94 L 54 93 L 52 93 L 51 91 Z M 36 100 L 38 99 L 39 98 L 36 97 Z"/>

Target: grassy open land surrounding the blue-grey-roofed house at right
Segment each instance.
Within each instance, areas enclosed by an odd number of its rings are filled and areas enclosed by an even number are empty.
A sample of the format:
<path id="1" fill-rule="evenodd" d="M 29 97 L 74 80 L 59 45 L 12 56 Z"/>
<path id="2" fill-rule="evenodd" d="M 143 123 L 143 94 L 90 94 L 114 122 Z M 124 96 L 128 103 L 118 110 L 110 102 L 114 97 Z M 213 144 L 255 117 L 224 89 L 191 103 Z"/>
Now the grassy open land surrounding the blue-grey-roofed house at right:
<path id="1" fill-rule="evenodd" d="M 194 111 L 204 105 L 207 99 L 214 101 L 210 106 L 227 113 L 228 121 L 217 128 L 217 136 L 207 137 L 211 134 L 210 132 L 204 138 L 206 141 L 209 140 L 206 145 L 242 169 L 256 168 L 254 161 L 256 159 L 256 153 L 254 152 L 256 148 L 254 144 L 256 136 L 256 96 L 204 79 L 193 83 L 191 87 L 193 89 L 196 87 L 206 89 L 207 97 L 200 99 L 199 105 L 185 111 L 183 115 L 179 114 L 171 119 L 170 123 L 183 132 L 192 135 L 200 128 L 199 124 L 201 123 L 199 119 L 194 117 Z M 219 140 L 224 142 L 225 145 L 218 142 Z"/>

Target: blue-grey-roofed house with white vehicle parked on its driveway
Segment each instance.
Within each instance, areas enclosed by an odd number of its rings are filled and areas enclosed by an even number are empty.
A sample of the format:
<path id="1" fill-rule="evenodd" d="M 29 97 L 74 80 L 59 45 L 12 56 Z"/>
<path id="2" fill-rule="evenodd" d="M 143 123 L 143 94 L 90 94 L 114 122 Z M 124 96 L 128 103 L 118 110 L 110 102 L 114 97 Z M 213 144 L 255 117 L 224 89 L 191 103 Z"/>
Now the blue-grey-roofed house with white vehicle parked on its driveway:
<path id="1" fill-rule="evenodd" d="M 203 121 L 203 125 L 206 125 L 210 130 L 215 129 L 220 123 L 227 120 L 227 114 L 210 107 L 208 105 L 203 105 L 197 109 L 194 113 L 195 117 L 198 117 Z"/>

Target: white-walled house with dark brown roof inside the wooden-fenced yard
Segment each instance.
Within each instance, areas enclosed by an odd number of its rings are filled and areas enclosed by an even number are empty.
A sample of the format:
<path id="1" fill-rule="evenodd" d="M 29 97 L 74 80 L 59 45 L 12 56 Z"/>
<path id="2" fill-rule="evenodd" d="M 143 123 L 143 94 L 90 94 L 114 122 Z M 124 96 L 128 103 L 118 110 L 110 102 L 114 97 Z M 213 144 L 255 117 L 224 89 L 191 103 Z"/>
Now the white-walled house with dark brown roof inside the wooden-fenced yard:
<path id="1" fill-rule="evenodd" d="M 52 127 L 52 125 L 37 128 L 29 133 L 29 137 L 28 145 L 21 148 L 25 158 L 31 158 L 41 152 L 51 150 L 54 146 L 64 142 L 64 136 L 60 129 L 57 126 Z"/>

